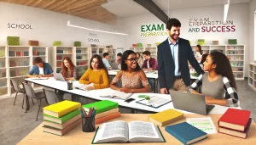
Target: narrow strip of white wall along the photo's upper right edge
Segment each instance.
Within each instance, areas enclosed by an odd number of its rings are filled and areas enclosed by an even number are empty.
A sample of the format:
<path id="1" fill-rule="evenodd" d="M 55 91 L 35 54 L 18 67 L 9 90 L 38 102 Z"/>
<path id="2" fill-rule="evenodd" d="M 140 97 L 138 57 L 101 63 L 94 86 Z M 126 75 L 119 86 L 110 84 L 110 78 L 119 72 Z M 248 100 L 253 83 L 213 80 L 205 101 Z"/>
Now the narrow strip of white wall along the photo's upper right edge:
<path id="1" fill-rule="evenodd" d="M 250 47 L 250 53 L 248 55 L 248 61 L 249 63 L 252 63 L 253 60 L 256 60 L 256 46 L 255 46 L 255 10 L 256 10 L 256 0 L 251 0 L 249 3 L 249 47 Z"/>

